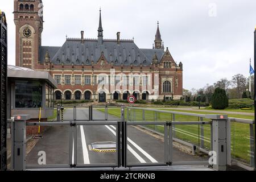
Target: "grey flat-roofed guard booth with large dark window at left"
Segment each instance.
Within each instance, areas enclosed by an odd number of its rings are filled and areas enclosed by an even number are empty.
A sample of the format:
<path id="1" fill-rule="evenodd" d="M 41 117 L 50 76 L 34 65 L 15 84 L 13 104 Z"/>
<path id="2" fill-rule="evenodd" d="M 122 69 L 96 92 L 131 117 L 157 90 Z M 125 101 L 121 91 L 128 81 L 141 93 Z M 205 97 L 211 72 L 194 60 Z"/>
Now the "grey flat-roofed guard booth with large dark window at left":
<path id="1" fill-rule="evenodd" d="M 30 115 L 28 122 L 45 122 L 53 115 L 53 93 L 57 88 L 48 72 L 8 65 L 8 117 Z M 27 128 L 27 135 L 38 134 L 38 127 Z"/>

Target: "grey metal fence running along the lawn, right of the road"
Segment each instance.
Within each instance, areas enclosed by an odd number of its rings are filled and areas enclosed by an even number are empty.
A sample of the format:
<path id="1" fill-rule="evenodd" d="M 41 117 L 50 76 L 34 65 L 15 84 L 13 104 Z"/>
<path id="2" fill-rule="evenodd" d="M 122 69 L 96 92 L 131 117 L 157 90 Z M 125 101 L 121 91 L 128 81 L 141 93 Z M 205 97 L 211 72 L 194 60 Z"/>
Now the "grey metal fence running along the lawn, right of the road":
<path id="1" fill-rule="evenodd" d="M 128 122 L 162 121 L 186 122 L 193 120 L 202 123 L 209 122 L 205 114 L 183 113 L 168 110 L 145 109 L 139 107 L 127 107 L 126 119 Z M 143 127 L 143 126 L 142 126 Z M 144 127 L 159 135 L 164 135 L 163 129 L 158 125 Z M 193 124 L 189 126 L 173 126 L 173 140 L 185 146 L 191 147 L 192 153 L 196 150 L 208 154 L 212 150 L 212 126 Z M 255 121 L 250 119 L 228 118 L 226 126 L 227 134 L 227 162 L 230 166 L 254 170 L 255 169 Z"/>

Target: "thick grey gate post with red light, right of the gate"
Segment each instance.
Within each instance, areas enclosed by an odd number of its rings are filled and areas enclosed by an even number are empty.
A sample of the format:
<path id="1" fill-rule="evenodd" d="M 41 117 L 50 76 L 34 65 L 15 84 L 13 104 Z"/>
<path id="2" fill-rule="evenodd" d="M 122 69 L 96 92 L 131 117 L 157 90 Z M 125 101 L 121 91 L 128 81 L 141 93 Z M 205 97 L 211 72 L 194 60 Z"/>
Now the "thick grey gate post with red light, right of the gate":
<path id="1" fill-rule="evenodd" d="M 226 171 L 227 147 L 230 147 L 226 145 L 228 115 L 206 115 L 205 118 L 212 119 L 212 150 L 216 152 L 216 163 L 213 164 L 213 168 Z"/>

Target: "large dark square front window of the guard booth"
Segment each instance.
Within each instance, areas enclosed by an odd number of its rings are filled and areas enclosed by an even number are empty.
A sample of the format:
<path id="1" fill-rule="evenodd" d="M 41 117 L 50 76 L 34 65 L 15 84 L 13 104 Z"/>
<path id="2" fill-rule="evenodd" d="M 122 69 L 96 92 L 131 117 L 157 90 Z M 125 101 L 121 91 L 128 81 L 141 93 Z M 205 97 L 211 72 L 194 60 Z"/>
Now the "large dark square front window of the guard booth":
<path id="1" fill-rule="evenodd" d="M 43 86 L 39 81 L 15 82 L 15 107 L 39 108 L 42 107 Z"/>

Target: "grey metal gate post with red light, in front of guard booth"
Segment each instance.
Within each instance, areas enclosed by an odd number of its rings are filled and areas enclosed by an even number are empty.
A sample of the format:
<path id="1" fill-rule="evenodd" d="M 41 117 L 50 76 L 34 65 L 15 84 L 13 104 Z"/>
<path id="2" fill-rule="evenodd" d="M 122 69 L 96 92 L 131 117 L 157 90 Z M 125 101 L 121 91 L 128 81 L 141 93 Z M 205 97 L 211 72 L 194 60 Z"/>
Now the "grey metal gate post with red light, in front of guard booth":
<path id="1" fill-rule="evenodd" d="M 11 158 L 14 171 L 26 169 L 26 121 L 30 115 L 14 115 L 13 143 Z"/>

